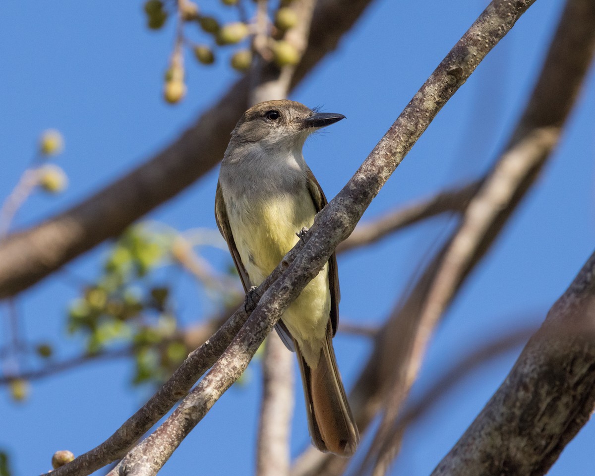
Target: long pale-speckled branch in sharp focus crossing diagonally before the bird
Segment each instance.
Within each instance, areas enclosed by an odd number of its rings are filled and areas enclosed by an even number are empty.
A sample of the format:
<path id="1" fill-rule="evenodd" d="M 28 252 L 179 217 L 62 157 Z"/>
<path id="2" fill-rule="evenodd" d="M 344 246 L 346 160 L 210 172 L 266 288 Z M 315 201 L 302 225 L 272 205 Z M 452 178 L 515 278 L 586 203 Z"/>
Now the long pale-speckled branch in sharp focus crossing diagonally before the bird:
<path id="1" fill-rule="evenodd" d="M 244 371 L 253 353 L 283 311 L 328 261 L 400 164 L 440 108 L 478 63 L 512 28 L 533 1 L 491 2 L 455 48 L 422 86 L 387 134 L 343 190 L 317 215 L 305 237 L 275 270 L 280 277 L 265 289 L 242 330 L 201 383 L 148 439 L 124 458 L 111 474 L 156 474 L 181 440 L 198 424 L 218 397 Z"/>

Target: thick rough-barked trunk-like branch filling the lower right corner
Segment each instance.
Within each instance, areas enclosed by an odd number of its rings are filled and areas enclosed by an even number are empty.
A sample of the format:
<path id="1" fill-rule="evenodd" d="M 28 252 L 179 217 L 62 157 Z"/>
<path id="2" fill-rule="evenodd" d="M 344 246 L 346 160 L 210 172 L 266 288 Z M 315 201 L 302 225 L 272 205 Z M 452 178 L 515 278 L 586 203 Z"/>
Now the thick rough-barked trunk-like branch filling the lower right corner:
<path id="1" fill-rule="evenodd" d="M 595 408 L 594 322 L 595 253 L 432 474 L 545 474 Z"/>

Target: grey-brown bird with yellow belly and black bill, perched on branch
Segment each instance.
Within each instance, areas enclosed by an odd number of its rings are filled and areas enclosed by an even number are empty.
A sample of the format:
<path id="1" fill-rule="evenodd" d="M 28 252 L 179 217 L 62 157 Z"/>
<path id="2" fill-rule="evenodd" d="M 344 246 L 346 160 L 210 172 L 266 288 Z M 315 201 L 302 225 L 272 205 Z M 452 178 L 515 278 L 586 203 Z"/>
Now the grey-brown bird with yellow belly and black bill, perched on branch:
<path id="1" fill-rule="evenodd" d="M 248 109 L 231 133 L 221 164 L 215 218 L 246 292 L 258 286 L 310 227 L 327 200 L 303 159 L 315 130 L 345 118 L 293 101 Z M 339 321 L 339 277 L 333 254 L 277 324 L 297 353 L 308 426 L 321 451 L 350 456 L 359 443 L 332 339 Z"/>

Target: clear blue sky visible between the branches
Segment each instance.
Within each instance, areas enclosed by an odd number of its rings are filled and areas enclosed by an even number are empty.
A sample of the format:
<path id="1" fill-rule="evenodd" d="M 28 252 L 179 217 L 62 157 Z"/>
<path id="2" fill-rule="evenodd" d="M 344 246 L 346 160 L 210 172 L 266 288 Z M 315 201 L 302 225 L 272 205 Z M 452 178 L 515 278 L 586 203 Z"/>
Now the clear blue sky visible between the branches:
<path id="1" fill-rule="evenodd" d="M 434 120 L 399 166 L 364 220 L 485 171 L 502 149 L 524 107 L 562 7 L 540 0 L 497 45 Z M 347 119 L 309 140 L 305 157 L 331 198 L 383 136 L 418 87 L 461 37 L 487 2 L 374 2 L 340 48 L 325 58 L 291 98 Z M 221 11 L 215 2 L 203 10 Z M 65 137 L 57 163 L 70 186 L 60 196 L 32 196 L 15 225 L 26 227 L 67 208 L 121 176 L 167 145 L 236 78 L 225 61 L 199 67 L 187 56 L 186 100 L 161 99 L 163 72 L 173 45 L 173 24 L 145 27 L 142 2 L 47 2 L 4 0 L 0 17 L 0 194 L 17 183 L 35 153 L 37 137 L 53 127 Z M 431 342 L 413 396 L 497 333 L 543 320 L 593 252 L 595 77 L 588 76 L 552 161 L 501 239 L 472 274 Z M 180 230 L 215 228 L 212 215 L 217 170 L 149 215 Z M 444 218 L 419 224 L 339 261 L 341 315 L 381 322 L 407 286 L 416 264 L 427 258 L 449 225 Z M 100 246 L 67 266 L 93 278 Z M 208 251 L 223 266 L 226 253 Z M 65 307 L 77 295 L 57 273 L 17 301 L 21 328 L 32 340 L 61 342 L 58 356 L 80 349 L 66 337 Z M 192 281 L 178 290 L 181 321 L 209 310 Z M 5 309 L 0 308 L 4 313 Z M 4 314 L 2 314 L 4 321 Z M 2 323 L 1 343 L 6 326 Z M 347 387 L 369 350 L 361 337 L 338 336 L 337 356 Z M 516 353 L 506 353 L 473 372 L 408 433 L 392 474 L 424 475 L 452 447 L 497 389 Z M 0 396 L 0 448 L 13 458 L 15 474 L 39 474 L 58 449 L 80 454 L 109 436 L 148 397 L 130 386 L 125 361 L 93 364 L 35 381 L 29 400 Z M 248 385 L 233 387 L 181 444 L 162 474 L 245 474 L 254 466 L 253 438 L 259 402 L 258 365 Z M 308 444 L 301 390 L 296 394 L 292 453 Z M 550 474 L 591 474 L 595 428 L 587 424 Z"/>

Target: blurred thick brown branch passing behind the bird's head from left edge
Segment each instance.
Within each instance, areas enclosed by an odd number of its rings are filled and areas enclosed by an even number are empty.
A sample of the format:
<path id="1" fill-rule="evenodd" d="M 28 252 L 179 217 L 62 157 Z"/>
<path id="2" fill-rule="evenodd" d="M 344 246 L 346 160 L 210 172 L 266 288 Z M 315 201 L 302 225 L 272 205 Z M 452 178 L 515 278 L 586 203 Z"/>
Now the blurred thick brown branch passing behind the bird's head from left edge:
<path id="1" fill-rule="evenodd" d="M 371 0 L 317 2 L 308 48 L 290 82 L 295 87 L 353 26 Z M 172 144 L 79 205 L 0 243 L 0 299 L 14 296 L 73 258 L 117 236 L 169 200 L 223 157 L 248 104 L 249 78 L 234 84 Z"/>

